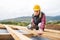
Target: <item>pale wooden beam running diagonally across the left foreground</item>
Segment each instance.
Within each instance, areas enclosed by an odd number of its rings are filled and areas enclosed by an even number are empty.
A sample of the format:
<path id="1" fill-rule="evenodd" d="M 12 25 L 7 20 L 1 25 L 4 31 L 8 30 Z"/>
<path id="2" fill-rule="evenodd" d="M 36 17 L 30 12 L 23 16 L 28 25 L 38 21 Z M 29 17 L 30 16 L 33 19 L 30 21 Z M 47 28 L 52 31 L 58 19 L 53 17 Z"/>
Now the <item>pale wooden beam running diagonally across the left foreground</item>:
<path id="1" fill-rule="evenodd" d="M 21 33 L 14 31 L 13 29 L 8 27 L 7 25 L 5 25 L 5 27 L 15 40 L 31 40 L 30 38 L 22 35 Z"/>

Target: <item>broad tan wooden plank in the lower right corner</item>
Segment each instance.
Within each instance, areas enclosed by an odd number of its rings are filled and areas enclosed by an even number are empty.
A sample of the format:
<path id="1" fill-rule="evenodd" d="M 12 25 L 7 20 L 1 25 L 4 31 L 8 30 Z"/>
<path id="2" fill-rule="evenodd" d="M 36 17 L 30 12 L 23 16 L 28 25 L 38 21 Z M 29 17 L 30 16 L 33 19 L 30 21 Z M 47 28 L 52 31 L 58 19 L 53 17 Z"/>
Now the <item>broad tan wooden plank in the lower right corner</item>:
<path id="1" fill-rule="evenodd" d="M 51 40 L 59 40 L 60 39 L 60 34 L 58 33 L 51 33 L 51 32 L 44 32 L 43 37 L 49 38 Z"/>

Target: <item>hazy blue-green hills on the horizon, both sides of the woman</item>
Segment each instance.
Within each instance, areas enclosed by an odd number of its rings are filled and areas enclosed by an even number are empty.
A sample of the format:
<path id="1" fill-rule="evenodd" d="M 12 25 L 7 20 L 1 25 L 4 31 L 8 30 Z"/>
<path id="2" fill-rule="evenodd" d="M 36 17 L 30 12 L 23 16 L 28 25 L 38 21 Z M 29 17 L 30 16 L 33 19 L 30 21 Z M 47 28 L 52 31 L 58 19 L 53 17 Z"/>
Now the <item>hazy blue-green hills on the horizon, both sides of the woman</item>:
<path id="1" fill-rule="evenodd" d="M 17 18 L 11 18 L 11 19 L 5 19 L 5 20 L 0 20 L 0 22 L 30 22 L 31 21 L 31 16 L 23 16 L 23 17 L 17 17 Z M 60 16 L 46 16 L 46 21 L 59 21 Z"/>

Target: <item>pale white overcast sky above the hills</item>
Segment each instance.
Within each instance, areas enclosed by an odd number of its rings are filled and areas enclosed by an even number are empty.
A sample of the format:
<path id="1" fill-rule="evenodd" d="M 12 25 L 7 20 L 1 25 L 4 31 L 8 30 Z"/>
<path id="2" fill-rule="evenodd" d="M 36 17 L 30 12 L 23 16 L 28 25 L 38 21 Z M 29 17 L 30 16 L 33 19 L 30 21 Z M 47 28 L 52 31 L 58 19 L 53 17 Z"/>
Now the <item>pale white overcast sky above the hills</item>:
<path id="1" fill-rule="evenodd" d="M 46 16 L 60 15 L 60 0 L 0 0 L 0 20 L 31 16 L 36 4 Z"/>

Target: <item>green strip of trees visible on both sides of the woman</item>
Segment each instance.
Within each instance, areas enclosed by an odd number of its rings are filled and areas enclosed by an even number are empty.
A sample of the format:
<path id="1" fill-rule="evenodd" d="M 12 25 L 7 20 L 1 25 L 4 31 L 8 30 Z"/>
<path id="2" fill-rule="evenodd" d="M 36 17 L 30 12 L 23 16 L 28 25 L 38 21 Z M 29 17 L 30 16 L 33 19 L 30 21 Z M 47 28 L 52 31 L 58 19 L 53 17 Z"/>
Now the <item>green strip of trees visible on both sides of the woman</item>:
<path id="1" fill-rule="evenodd" d="M 0 22 L 0 23 L 1 24 L 19 25 L 19 26 L 27 26 L 28 24 L 30 24 L 29 22 L 14 22 L 14 21 Z M 46 24 L 60 24 L 60 21 L 47 22 Z"/>

